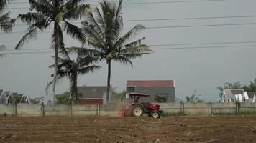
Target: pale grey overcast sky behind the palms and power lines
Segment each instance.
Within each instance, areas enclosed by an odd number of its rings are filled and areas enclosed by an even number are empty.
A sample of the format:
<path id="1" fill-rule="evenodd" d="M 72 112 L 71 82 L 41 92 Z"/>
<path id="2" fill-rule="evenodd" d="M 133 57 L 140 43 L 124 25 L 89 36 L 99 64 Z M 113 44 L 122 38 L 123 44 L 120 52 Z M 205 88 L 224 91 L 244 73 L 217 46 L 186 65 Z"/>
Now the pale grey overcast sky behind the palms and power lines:
<path id="1" fill-rule="evenodd" d="M 18 0 L 17 0 L 18 1 Z M 23 0 L 24 1 L 24 0 Z M 161 1 L 161 0 L 147 0 Z M 164 0 L 163 0 L 164 1 Z M 165 0 L 169 1 L 169 0 Z M 176 0 L 181 1 L 181 0 Z M 183 1 L 183 0 L 182 0 Z M 189 0 L 187 0 L 189 1 Z M 124 3 L 143 2 L 124 0 Z M 88 2 L 90 4 L 90 2 Z M 92 2 L 91 4 L 96 4 Z M 29 4 L 10 4 L 9 8 L 28 7 Z M 256 15 L 255 0 L 198 1 L 168 4 L 126 4 L 123 6 L 124 20 L 132 19 L 170 19 L 212 16 L 252 16 Z M 12 16 L 25 13 L 28 9 L 6 9 Z M 256 17 L 232 19 L 184 19 L 170 21 L 125 21 L 124 27 L 131 28 L 136 24 L 146 27 L 188 26 L 209 24 L 244 24 L 235 26 L 200 26 L 175 27 L 166 29 L 145 29 L 137 38 L 146 37 L 145 44 L 191 44 L 180 46 L 155 46 L 154 54 L 134 59 L 134 67 L 119 63 L 112 64 L 111 84 L 118 91 L 125 89 L 127 80 L 175 80 L 176 97 L 184 99 L 197 89 L 206 101 L 216 101 L 219 91 L 216 89 L 224 82 L 241 81 L 248 84 L 256 78 L 255 43 L 242 44 L 200 44 L 219 42 L 256 41 Z M 249 24 L 250 23 L 250 24 Z M 27 26 L 17 25 L 14 32 L 24 31 Z M 50 29 L 49 29 L 50 30 Z M 0 44 L 14 49 L 23 34 L 0 34 Z M 38 34 L 37 40 L 26 44 L 22 49 L 49 48 L 50 33 Z M 66 46 L 79 46 L 77 41 L 65 36 Z M 239 46 L 229 48 L 208 49 L 170 49 L 197 46 Z M 157 48 L 162 48 L 158 49 Z M 33 51 L 33 50 L 31 50 Z M 34 50 L 51 51 L 51 50 Z M 24 51 L 9 51 L 24 52 Z M 28 51 L 25 51 L 28 52 Z M 30 97 L 45 96 L 45 86 L 53 73 L 48 68 L 53 64 L 52 54 L 6 54 L 0 59 L 0 88 L 12 92 L 20 92 Z M 99 63 L 102 68 L 94 74 L 79 77 L 78 85 L 106 85 L 106 62 Z M 58 84 L 58 93 L 69 89 L 68 80 Z M 51 89 L 49 91 L 51 93 Z"/>

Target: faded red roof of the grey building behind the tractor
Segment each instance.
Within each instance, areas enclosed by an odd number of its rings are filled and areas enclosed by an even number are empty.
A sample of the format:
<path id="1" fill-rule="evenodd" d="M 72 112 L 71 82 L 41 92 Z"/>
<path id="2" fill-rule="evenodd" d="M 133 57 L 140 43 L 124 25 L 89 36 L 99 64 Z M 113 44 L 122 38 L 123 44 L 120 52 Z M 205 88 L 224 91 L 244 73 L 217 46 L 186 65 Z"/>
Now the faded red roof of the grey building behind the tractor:
<path id="1" fill-rule="evenodd" d="M 174 80 L 127 81 L 127 87 L 175 87 Z"/>

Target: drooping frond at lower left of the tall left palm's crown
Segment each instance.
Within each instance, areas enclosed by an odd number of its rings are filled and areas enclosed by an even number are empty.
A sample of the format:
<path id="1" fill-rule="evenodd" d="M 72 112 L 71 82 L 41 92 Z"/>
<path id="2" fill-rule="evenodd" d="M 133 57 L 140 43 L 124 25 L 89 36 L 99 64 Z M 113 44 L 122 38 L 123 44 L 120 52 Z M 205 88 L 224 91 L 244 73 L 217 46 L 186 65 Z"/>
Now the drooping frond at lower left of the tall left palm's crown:
<path id="1" fill-rule="evenodd" d="M 37 28 L 31 29 L 25 34 L 22 39 L 19 40 L 19 43 L 17 46 L 15 46 L 15 49 L 19 49 L 22 47 L 25 43 L 29 42 L 31 39 L 36 39 L 37 38 Z"/>

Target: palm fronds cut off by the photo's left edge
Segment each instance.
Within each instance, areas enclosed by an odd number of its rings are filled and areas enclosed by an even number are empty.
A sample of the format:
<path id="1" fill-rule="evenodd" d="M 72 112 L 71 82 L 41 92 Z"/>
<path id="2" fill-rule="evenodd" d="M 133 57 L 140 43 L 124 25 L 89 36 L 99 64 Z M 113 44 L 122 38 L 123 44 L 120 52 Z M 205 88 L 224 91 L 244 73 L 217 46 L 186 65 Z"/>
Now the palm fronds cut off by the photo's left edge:
<path id="1" fill-rule="evenodd" d="M 12 31 L 12 27 L 14 26 L 15 19 L 10 19 L 10 13 L 4 14 L 3 11 L 7 5 L 8 0 L 0 0 L 0 29 L 4 32 Z M 6 49 L 6 46 L 0 45 L 0 51 Z M 4 54 L 0 54 L 0 57 L 4 56 Z"/>

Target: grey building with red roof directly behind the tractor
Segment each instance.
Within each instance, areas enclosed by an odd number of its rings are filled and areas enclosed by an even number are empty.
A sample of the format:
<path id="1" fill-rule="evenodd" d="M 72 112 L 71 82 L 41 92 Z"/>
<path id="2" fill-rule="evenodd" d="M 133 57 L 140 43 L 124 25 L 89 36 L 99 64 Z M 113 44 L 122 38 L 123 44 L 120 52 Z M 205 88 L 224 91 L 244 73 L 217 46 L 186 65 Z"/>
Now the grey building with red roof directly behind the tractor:
<path id="1" fill-rule="evenodd" d="M 138 92 L 150 94 L 141 102 L 157 102 L 155 95 L 168 97 L 168 102 L 175 101 L 175 80 L 128 80 L 127 93 Z"/>

